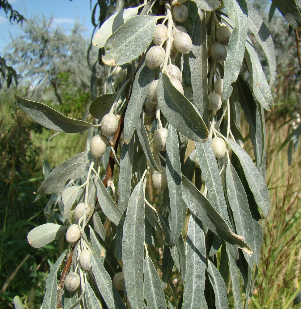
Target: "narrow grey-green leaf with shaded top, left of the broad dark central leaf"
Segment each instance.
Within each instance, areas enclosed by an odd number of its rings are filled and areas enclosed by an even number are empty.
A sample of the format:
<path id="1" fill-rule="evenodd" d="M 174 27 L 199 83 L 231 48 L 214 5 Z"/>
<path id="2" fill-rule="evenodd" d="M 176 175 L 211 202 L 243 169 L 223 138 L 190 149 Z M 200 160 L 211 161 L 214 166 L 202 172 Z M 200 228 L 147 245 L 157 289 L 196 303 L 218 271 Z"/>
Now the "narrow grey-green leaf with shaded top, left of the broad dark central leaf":
<path id="1" fill-rule="evenodd" d="M 124 120 L 124 142 L 128 144 L 137 128 L 139 117 L 142 112 L 143 103 L 145 101 L 148 87 L 154 80 L 155 70 L 150 70 L 143 62 L 142 66 L 138 70 L 131 98 L 125 112 Z"/>

